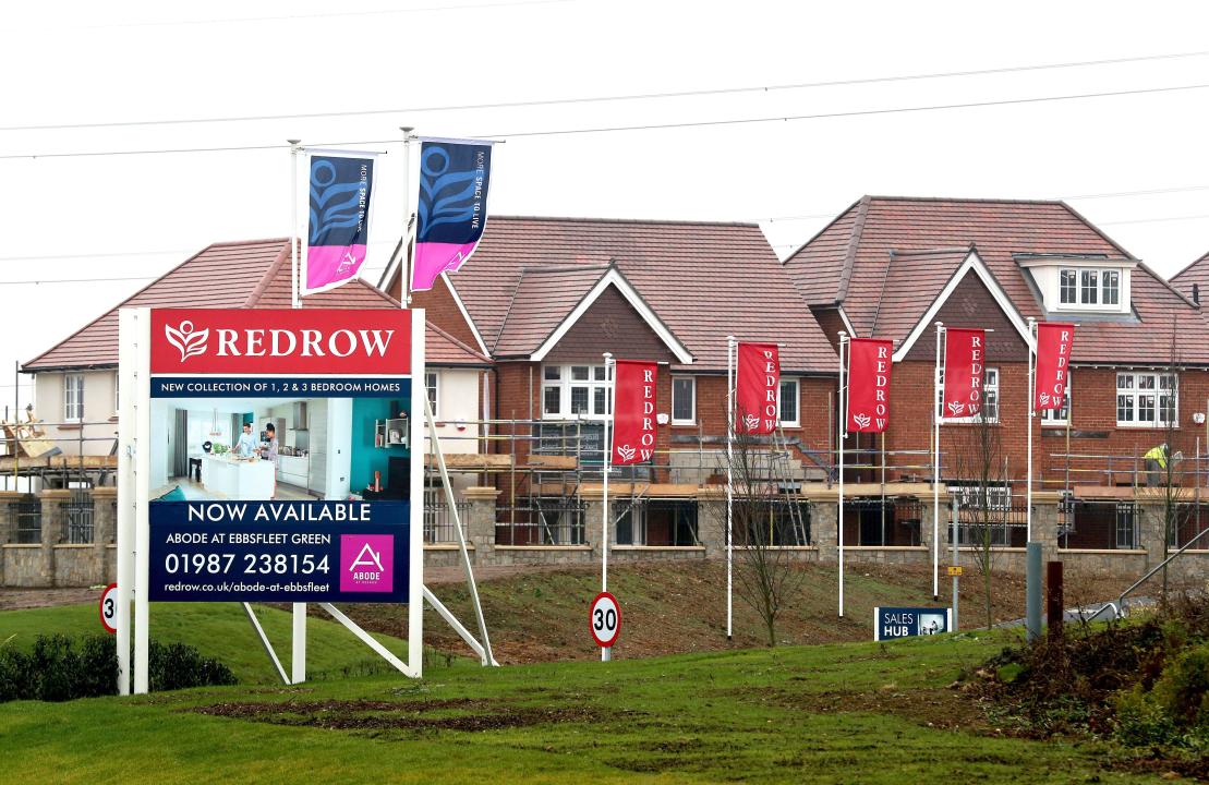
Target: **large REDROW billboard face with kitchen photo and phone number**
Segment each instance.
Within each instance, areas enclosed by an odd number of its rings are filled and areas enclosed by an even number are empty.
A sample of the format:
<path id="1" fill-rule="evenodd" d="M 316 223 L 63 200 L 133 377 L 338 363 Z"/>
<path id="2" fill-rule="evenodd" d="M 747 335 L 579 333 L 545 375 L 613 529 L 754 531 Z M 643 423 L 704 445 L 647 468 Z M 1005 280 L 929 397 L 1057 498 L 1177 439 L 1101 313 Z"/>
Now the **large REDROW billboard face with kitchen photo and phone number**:
<path id="1" fill-rule="evenodd" d="M 150 312 L 152 601 L 410 601 L 422 319 Z"/>

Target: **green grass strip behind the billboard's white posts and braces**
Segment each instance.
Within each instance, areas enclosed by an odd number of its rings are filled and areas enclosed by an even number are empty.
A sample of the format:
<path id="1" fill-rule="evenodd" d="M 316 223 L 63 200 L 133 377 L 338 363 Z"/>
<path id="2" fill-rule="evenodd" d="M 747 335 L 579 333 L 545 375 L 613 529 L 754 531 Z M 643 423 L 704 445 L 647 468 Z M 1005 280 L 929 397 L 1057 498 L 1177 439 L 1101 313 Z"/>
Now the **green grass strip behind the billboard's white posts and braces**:
<path id="1" fill-rule="evenodd" d="M 288 671 L 290 614 L 264 605 L 251 607 Z M 69 636 L 103 634 L 97 606 L 0 611 L 0 643 L 28 646 L 37 635 L 54 633 Z M 236 602 L 157 602 L 151 606 L 151 636 L 164 643 L 180 641 L 195 646 L 202 654 L 226 664 L 243 683 L 280 683 L 243 607 Z M 406 641 L 382 634 L 375 637 L 406 662 Z M 455 666 L 463 664 L 462 660 L 453 663 Z M 446 659 L 429 657 L 429 668 L 445 670 Z M 314 617 L 307 619 L 307 671 L 311 679 L 319 680 L 346 674 L 395 673 L 341 624 Z"/>

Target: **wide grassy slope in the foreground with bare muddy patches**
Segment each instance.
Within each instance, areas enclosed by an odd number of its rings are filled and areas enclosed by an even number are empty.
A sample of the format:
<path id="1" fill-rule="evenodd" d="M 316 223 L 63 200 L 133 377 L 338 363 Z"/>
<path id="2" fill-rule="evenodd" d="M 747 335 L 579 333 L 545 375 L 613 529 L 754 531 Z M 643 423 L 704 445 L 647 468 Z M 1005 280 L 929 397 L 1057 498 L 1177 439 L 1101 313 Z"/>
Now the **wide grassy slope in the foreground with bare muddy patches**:
<path id="1" fill-rule="evenodd" d="M 949 687 L 1011 635 L 13 703 L 0 705 L 0 770 L 89 784 L 1155 781 L 1105 768 L 1098 745 L 999 735 Z"/>

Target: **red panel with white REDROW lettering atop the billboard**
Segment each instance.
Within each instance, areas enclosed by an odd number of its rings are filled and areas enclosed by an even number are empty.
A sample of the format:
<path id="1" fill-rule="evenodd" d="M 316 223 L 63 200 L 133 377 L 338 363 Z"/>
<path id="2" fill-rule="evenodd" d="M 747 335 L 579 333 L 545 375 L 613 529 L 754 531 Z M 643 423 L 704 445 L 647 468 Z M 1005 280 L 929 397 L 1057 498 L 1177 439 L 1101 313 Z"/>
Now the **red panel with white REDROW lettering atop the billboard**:
<path id="1" fill-rule="evenodd" d="M 411 373 L 403 308 L 155 308 L 152 374 Z"/>

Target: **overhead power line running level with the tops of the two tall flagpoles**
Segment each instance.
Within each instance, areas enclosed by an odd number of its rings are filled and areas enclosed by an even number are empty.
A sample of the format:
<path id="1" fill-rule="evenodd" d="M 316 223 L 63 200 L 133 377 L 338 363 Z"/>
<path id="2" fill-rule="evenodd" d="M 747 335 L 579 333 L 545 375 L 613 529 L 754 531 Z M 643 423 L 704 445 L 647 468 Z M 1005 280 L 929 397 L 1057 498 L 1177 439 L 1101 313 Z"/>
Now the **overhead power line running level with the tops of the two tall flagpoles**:
<path id="1" fill-rule="evenodd" d="M 480 133 L 472 134 L 478 139 L 519 139 L 523 137 L 561 137 L 580 133 L 617 133 L 625 131 L 663 131 L 669 128 L 702 128 L 708 126 L 739 126 L 764 122 L 794 122 L 802 120 L 831 120 L 838 117 L 870 117 L 893 114 L 910 114 L 925 111 L 948 111 L 954 109 L 979 109 L 987 106 L 1008 106 L 1019 104 L 1042 104 L 1062 100 L 1086 100 L 1093 98 L 1118 98 L 1123 96 L 1144 96 L 1158 93 L 1174 93 L 1192 90 L 1204 90 L 1209 83 L 1202 85 L 1175 85 L 1170 87 L 1144 87 L 1138 90 L 1116 90 L 1101 93 L 1072 93 L 1066 96 L 1041 96 L 1032 98 L 1008 98 L 1001 100 L 977 100 L 955 104 L 930 104 L 924 106 L 893 106 L 889 109 L 861 109 L 855 111 L 831 111 L 814 115 L 786 115 L 776 117 L 740 117 L 735 120 L 700 120 L 689 122 L 652 123 L 642 126 L 601 126 L 594 128 L 563 128 L 557 131 L 517 131 L 513 133 Z M 354 142 L 322 142 L 319 146 L 346 146 L 361 144 L 397 144 L 399 139 L 359 139 Z M 249 150 L 288 150 L 288 144 L 260 144 L 260 145 L 231 145 L 221 148 L 164 148 L 147 150 L 92 150 L 75 152 L 25 152 L 13 155 L 0 155 L 0 161 L 18 158 L 79 158 L 100 156 L 127 156 L 127 155 L 161 155 L 161 154 L 185 154 L 185 152 L 231 152 Z"/>

